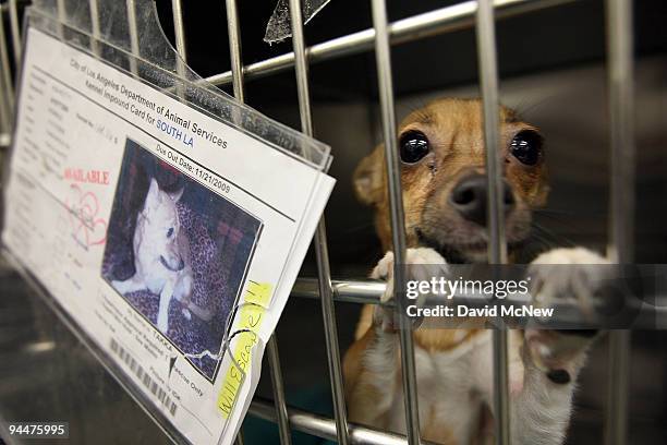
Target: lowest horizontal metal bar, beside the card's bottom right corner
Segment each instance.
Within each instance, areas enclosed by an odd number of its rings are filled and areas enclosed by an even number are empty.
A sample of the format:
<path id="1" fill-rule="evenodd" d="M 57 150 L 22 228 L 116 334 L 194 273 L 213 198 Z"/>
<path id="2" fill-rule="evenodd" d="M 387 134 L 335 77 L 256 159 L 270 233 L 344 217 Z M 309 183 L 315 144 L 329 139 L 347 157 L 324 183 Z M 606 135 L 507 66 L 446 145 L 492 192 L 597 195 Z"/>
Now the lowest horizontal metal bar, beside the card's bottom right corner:
<path id="1" fill-rule="evenodd" d="M 271 422 L 276 421 L 276 413 L 268 401 L 255 397 L 250 406 L 248 413 Z M 329 441 L 336 441 L 336 422 L 312 412 L 289 408 L 288 414 L 290 424 L 294 430 L 302 431 Z M 400 434 L 387 433 L 371 428 L 355 424 L 349 425 L 351 445 L 405 445 L 405 436 Z M 430 445 L 426 442 L 423 445 Z"/>

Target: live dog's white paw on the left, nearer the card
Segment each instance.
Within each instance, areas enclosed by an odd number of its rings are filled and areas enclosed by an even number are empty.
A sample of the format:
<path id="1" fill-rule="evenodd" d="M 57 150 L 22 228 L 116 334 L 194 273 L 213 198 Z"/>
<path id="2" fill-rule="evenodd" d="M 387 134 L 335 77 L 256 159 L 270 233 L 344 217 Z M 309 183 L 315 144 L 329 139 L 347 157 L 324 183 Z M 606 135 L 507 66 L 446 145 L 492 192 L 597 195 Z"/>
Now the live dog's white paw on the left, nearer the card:
<path id="1" fill-rule="evenodd" d="M 393 299 L 393 252 L 389 251 L 377 263 L 371 278 L 381 279 L 387 286 L 380 296 L 380 303 L 375 308 L 374 322 L 381 326 L 385 332 L 396 330 L 393 323 L 393 311 L 386 304 Z M 427 280 L 441 272 L 442 265 L 447 264 L 445 258 L 433 249 L 416 248 L 405 251 L 405 280 Z"/>

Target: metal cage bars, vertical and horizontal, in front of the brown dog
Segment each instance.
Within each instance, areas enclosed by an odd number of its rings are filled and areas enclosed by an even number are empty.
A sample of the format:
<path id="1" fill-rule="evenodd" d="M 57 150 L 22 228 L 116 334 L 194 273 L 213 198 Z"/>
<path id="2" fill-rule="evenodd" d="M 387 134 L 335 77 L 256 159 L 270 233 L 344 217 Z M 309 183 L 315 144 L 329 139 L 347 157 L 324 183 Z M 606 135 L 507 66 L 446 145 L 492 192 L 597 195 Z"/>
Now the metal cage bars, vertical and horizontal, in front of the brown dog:
<path id="1" fill-rule="evenodd" d="M 293 51 L 248 65 L 241 61 L 240 23 L 237 12 L 237 0 L 226 0 L 228 33 L 230 41 L 231 71 L 206 79 L 214 85 L 233 85 L 239 100 L 244 100 L 244 79 L 270 76 L 275 73 L 295 68 L 299 92 L 301 130 L 312 135 L 312 113 L 308 92 L 308 63 L 322 60 L 342 58 L 363 51 L 375 51 L 378 72 L 378 86 L 381 107 L 381 122 L 387 155 L 389 177 L 389 196 L 391 201 L 392 242 L 396 264 L 402 263 L 405 254 L 403 209 L 401 202 L 401 183 L 399 165 L 396 156 L 396 113 L 393 107 L 393 88 L 391 76 L 390 46 L 427 38 L 433 35 L 476 27 L 477 57 L 480 62 L 480 85 L 484 104 L 484 131 L 487 147 L 487 179 L 489 195 L 489 231 L 490 240 L 488 260 L 490 263 L 506 262 L 505 232 L 502 227 L 502 208 L 500 199 L 500 172 L 496 156 L 498 135 L 498 75 L 496 67 L 495 17 L 524 14 L 543 8 L 554 8 L 573 0 L 478 0 L 465 1 L 452 7 L 437 9 L 408 19 L 388 23 L 385 0 L 371 0 L 373 28 L 344 35 L 311 47 L 306 46 L 303 34 L 303 17 L 300 0 L 289 0 L 291 25 L 293 32 Z M 97 1 L 89 0 L 92 14 L 97 13 Z M 182 0 L 172 0 L 173 22 L 177 49 L 183 60 L 186 35 L 183 27 Z M 632 215 L 633 215 L 633 29 L 631 0 L 607 0 L 607 50 L 608 50 L 608 88 L 610 119 L 611 177 L 609 212 L 610 239 L 609 252 L 616 263 L 632 262 Z M 64 8 L 58 1 L 59 8 Z M 134 8 L 133 0 L 126 0 L 129 17 Z M 8 147 L 11 142 L 11 129 L 14 110 L 12 65 L 21 60 L 21 31 L 17 0 L 8 0 L 1 5 L 0 20 L 0 146 Z M 5 29 L 4 19 L 9 19 L 10 28 Z M 93 23 L 96 23 L 95 17 Z M 132 22 L 132 21 L 131 21 Z M 94 26 L 95 33 L 95 26 Z M 97 31 L 99 33 L 99 29 Z M 136 35 L 136 32 L 134 33 Z M 9 39 L 8 39 L 9 37 Z M 9 40 L 9 41 L 8 41 Z M 11 53 L 15 60 L 10 60 Z M 333 399 L 333 419 L 323 418 L 311 412 L 290 409 L 286 397 L 278 356 L 278 346 L 274 336 L 268 344 L 268 362 L 274 386 L 274 407 L 270 404 L 255 400 L 250 411 L 255 416 L 275 421 L 279 425 L 283 445 L 291 443 L 290 430 L 300 430 L 340 444 L 419 444 L 420 422 L 417 397 L 415 390 L 415 363 L 412 336 L 409 328 L 400 329 L 402 366 L 404 372 L 403 390 L 405 394 L 407 436 L 376 431 L 361 425 L 349 424 L 345 416 L 345 400 L 341 372 L 340 350 L 336 329 L 335 302 L 353 301 L 357 303 L 378 303 L 384 286 L 372 281 L 332 281 L 327 251 L 327 231 L 324 219 L 316 231 L 315 251 L 317 258 L 317 281 L 300 279 L 294 288 L 296 297 L 315 297 L 322 302 L 323 323 L 326 333 L 329 380 Z M 398 267 L 398 266 L 397 266 Z M 397 274 L 398 275 L 398 274 Z M 400 286 L 396 286 L 400 288 Z M 498 444 L 510 444 L 508 410 L 508 357 L 507 337 L 504 330 L 494 332 L 494 380 L 495 408 L 499 413 L 496 419 L 496 437 Z M 627 436 L 627 397 L 630 354 L 630 332 L 610 333 L 609 389 L 606 412 L 605 437 L 608 445 L 623 444 Z M 243 443 L 241 434 L 238 443 Z"/>

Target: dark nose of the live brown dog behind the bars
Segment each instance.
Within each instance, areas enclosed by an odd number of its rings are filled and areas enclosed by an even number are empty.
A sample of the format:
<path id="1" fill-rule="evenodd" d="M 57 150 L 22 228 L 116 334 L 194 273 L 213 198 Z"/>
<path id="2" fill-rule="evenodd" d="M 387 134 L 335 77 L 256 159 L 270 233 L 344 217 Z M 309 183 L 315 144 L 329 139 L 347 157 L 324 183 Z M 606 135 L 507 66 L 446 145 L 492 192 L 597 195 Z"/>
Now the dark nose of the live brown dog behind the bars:
<path id="1" fill-rule="evenodd" d="M 451 206 L 469 221 L 486 227 L 486 206 L 488 194 L 486 177 L 474 175 L 463 178 L 451 192 Z M 504 209 L 507 215 L 514 206 L 514 195 L 507 181 L 502 181 Z"/>

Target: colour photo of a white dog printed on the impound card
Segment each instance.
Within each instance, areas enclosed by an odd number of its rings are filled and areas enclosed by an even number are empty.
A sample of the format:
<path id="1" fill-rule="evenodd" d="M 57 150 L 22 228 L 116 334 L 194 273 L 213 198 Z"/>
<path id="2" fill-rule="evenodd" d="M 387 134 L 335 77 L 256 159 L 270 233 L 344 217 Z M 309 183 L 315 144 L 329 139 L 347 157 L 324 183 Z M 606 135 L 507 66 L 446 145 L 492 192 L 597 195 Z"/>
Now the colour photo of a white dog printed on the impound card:
<path id="1" fill-rule="evenodd" d="M 161 334 L 213 382 L 262 228 L 255 215 L 128 139 L 100 275 L 145 322 L 135 326 L 140 335 Z"/>

